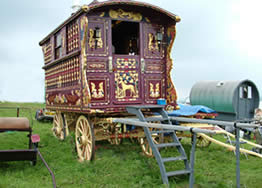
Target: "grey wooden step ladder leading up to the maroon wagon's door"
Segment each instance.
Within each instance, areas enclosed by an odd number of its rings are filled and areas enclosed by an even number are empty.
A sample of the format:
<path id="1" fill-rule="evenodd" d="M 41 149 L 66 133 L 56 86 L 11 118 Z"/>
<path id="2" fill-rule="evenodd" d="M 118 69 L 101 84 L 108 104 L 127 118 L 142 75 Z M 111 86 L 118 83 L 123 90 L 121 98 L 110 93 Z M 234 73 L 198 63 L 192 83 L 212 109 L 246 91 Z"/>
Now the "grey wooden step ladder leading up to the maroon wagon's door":
<path id="1" fill-rule="evenodd" d="M 136 115 L 138 117 L 138 119 L 142 122 L 160 121 L 161 123 L 172 125 L 170 119 L 168 118 L 167 112 L 164 110 L 164 106 L 160 106 L 160 105 L 139 106 L 139 105 L 137 105 L 137 106 L 128 106 L 128 107 L 126 107 L 126 109 L 130 114 Z M 147 112 L 150 111 L 152 113 L 155 113 L 156 115 L 159 114 L 161 117 L 145 118 L 145 116 L 142 112 L 142 109 L 147 111 Z M 192 160 L 190 160 L 191 163 L 189 164 L 189 160 L 187 158 L 185 150 L 184 150 L 183 146 L 181 145 L 181 143 L 180 143 L 176 133 L 174 132 L 174 130 L 150 131 L 148 127 L 143 127 L 143 128 L 144 128 L 145 136 L 148 140 L 148 143 L 149 143 L 150 147 L 152 148 L 153 154 L 154 154 L 154 156 L 157 160 L 157 163 L 159 165 L 163 183 L 169 184 L 168 177 L 176 176 L 176 175 L 182 175 L 182 174 L 189 174 L 190 175 L 189 184 L 190 184 L 190 187 L 193 187 L 193 184 L 194 184 L 195 140 L 193 142 L 192 151 L 191 151 Z M 167 133 L 172 137 L 171 143 L 168 142 L 168 143 L 156 144 L 153 141 L 152 135 L 167 134 Z M 193 139 L 196 139 L 196 137 L 194 136 Z M 168 148 L 168 147 L 176 147 L 178 152 L 180 153 L 180 155 L 175 156 L 175 157 L 163 158 L 161 156 L 160 152 L 159 152 L 159 148 Z M 172 162 L 172 161 L 183 161 L 185 168 L 182 169 L 182 170 L 167 172 L 165 164 L 168 163 L 168 162 Z"/>

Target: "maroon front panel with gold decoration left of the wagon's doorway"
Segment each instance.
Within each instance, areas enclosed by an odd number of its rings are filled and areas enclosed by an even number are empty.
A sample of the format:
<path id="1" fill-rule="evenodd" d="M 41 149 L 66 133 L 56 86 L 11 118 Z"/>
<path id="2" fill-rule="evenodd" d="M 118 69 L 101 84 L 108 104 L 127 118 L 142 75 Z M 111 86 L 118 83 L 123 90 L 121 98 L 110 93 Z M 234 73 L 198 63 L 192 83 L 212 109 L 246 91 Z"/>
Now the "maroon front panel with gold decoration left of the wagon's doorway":
<path id="1" fill-rule="evenodd" d="M 107 19 L 88 19 L 86 79 L 90 88 L 91 105 L 95 107 L 110 103 L 108 27 Z"/>

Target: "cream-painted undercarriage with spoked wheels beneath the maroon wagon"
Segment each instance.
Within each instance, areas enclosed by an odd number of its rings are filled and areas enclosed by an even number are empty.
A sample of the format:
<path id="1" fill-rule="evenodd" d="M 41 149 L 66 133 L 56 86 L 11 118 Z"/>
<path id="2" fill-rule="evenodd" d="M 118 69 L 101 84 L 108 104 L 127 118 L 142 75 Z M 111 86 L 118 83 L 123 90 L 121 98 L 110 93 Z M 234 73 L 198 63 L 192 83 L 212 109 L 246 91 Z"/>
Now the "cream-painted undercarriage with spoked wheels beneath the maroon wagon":
<path id="1" fill-rule="evenodd" d="M 114 123 L 114 119 L 118 118 L 123 117 L 88 117 L 88 115 L 76 113 L 56 112 L 52 131 L 54 136 L 60 140 L 64 140 L 70 132 L 75 132 L 75 143 L 80 161 L 91 160 L 95 142 L 103 140 L 107 140 L 110 144 L 119 145 L 123 139 L 130 139 L 141 145 L 146 156 L 152 157 L 152 149 L 145 138 L 143 128 Z M 160 123 L 160 121 L 151 121 L 151 123 Z M 164 137 L 155 134 L 153 138 L 158 143 Z"/>

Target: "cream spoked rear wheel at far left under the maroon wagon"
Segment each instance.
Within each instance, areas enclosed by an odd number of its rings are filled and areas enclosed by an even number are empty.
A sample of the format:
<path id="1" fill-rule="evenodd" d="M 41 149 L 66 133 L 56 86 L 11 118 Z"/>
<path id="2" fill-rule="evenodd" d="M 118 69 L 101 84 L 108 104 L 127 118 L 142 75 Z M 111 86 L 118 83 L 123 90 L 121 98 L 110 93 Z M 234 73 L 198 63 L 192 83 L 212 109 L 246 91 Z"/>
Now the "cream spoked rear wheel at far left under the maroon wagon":
<path id="1" fill-rule="evenodd" d="M 66 123 L 66 119 L 65 119 Z M 64 126 L 61 112 L 56 112 L 53 120 L 53 135 L 59 140 L 64 140 L 69 134 L 67 125 Z"/>

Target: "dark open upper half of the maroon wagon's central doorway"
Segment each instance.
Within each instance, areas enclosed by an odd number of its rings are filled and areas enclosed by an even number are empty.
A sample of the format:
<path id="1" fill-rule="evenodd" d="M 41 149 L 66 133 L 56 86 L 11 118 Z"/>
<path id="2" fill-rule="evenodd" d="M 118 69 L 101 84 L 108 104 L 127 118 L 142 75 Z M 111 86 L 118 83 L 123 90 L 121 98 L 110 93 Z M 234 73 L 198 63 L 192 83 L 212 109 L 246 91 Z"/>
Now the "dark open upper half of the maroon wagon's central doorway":
<path id="1" fill-rule="evenodd" d="M 139 54 L 139 23 L 120 20 L 112 21 L 113 54 Z"/>

